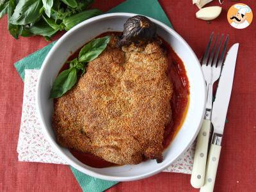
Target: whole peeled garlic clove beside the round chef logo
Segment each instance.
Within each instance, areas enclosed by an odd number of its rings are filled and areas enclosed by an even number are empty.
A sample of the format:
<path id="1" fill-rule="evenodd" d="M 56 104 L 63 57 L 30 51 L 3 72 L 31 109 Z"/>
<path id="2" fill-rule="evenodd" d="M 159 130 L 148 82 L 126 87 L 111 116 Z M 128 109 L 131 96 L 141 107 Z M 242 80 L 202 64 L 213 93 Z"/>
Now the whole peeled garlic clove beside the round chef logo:
<path id="1" fill-rule="evenodd" d="M 196 12 L 196 18 L 202 20 L 213 20 L 216 19 L 220 15 L 220 13 L 220 6 L 208 6 Z"/>

